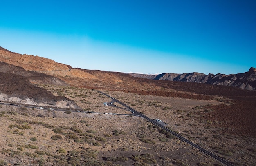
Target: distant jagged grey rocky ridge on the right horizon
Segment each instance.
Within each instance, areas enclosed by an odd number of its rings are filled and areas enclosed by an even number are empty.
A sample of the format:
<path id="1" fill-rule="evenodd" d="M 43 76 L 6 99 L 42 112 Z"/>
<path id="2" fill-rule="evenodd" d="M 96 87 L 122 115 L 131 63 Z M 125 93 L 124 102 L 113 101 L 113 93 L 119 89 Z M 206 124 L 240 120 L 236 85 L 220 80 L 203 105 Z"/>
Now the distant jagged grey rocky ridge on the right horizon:
<path id="1" fill-rule="evenodd" d="M 204 74 L 204 73 L 162 73 L 162 74 L 135 74 L 127 73 L 133 77 L 146 78 L 149 80 L 168 80 L 181 82 L 197 82 L 212 85 L 233 86 L 246 90 L 256 90 L 256 68 L 251 67 L 248 72 L 237 74 Z"/>

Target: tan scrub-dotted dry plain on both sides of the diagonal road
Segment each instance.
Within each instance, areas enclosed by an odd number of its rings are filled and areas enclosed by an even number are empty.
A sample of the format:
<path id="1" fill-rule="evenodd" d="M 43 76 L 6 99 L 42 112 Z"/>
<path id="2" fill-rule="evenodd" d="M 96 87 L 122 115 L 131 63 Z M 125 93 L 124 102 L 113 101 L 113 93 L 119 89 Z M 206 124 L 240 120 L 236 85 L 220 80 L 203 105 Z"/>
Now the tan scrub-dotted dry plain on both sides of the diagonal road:
<path id="1" fill-rule="evenodd" d="M 130 113 L 123 109 L 104 106 L 103 103 L 110 102 L 111 99 L 102 97 L 97 91 L 68 86 L 40 86 L 55 95 L 63 95 L 74 100 L 84 112 L 66 114 L 60 111 L 30 108 L 25 110 L 2 105 L 2 163 L 49 165 L 65 161 L 64 164 L 71 164 L 82 162 L 74 156 L 86 155 L 91 157 L 91 161 L 104 162 L 106 165 L 112 163 L 128 166 L 133 163 L 140 164 L 144 160 L 159 165 L 196 165 L 199 162 L 208 165 L 219 164 L 184 142 L 168 138 L 168 135 L 159 132 L 156 126 L 140 117 L 85 113 L 86 110 Z M 202 118 L 202 113 L 208 115 L 211 110 L 195 109 L 197 106 L 219 104 L 218 101 L 157 97 L 118 91 L 105 92 L 152 119 L 163 120 L 173 131 L 204 148 L 209 148 L 209 151 L 231 152 L 228 154 L 232 155 L 224 156 L 220 153 L 231 162 L 254 164 L 255 152 L 248 150 L 255 147 L 254 138 L 227 135 L 225 128 L 213 126 L 221 122 L 210 122 Z M 20 132 L 23 134 L 17 134 Z M 114 133 L 118 135 L 115 136 Z M 56 135 L 62 139 L 51 139 Z M 150 140 L 151 144 L 139 139 Z M 111 156 L 112 158 L 109 158 Z M 148 156 L 152 160 L 149 160 Z M 115 161 L 110 162 L 111 160 Z"/>

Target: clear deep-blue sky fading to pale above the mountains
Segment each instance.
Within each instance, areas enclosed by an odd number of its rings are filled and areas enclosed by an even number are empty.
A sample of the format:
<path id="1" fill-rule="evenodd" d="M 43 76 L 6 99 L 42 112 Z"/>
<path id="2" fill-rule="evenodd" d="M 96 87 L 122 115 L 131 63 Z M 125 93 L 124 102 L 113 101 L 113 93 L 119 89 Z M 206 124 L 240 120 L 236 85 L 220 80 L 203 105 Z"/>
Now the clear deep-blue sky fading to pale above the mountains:
<path id="1" fill-rule="evenodd" d="M 83 69 L 243 73 L 256 0 L 3 0 L 0 46 Z"/>

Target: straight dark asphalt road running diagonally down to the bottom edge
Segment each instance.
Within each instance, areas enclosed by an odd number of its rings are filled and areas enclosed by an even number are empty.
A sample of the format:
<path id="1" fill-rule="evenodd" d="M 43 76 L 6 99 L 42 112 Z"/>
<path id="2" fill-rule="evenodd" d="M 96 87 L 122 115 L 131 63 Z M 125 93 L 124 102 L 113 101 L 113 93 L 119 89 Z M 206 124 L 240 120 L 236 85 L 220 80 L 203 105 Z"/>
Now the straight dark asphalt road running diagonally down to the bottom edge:
<path id="1" fill-rule="evenodd" d="M 127 106 L 126 104 L 120 102 L 119 100 L 115 99 L 114 97 L 111 97 L 110 95 L 107 95 L 106 93 L 103 93 L 103 92 L 101 92 L 101 91 L 98 91 L 98 92 L 101 93 L 101 94 L 103 94 L 103 95 L 106 95 L 106 96 L 110 97 L 113 101 L 118 102 L 119 104 L 125 106 L 126 108 L 128 108 L 128 109 L 133 113 L 133 115 L 137 115 L 137 116 L 143 117 L 144 119 L 148 120 L 149 122 L 151 122 L 151 123 L 153 123 L 153 124 L 159 126 L 160 128 L 162 128 L 162 129 L 168 131 L 169 133 L 173 134 L 174 136 L 176 136 L 176 137 L 179 138 L 180 140 L 182 140 L 182 141 L 184 141 L 184 142 L 190 144 L 190 145 L 193 146 L 194 148 L 197 148 L 199 151 L 201 151 L 201 152 L 203 152 L 203 153 L 205 153 L 205 154 L 207 154 L 207 155 L 213 157 L 214 159 L 218 160 L 218 161 L 221 162 L 222 164 L 225 164 L 226 166 L 234 166 L 233 164 L 231 164 L 231 163 L 228 162 L 227 160 L 222 159 L 221 157 L 219 157 L 219 156 L 217 156 L 217 155 L 211 153 L 210 151 L 207 151 L 206 149 L 204 149 L 204 148 L 198 146 L 197 144 L 194 144 L 193 142 L 191 142 L 191 141 L 189 141 L 188 139 L 182 137 L 181 135 L 175 133 L 174 131 L 171 131 L 170 129 L 168 129 L 168 128 L 162 126 L 162 125 L 160 125 L 160 124 L 157 123 L 155 120 L 152 120 L 152 119 L 150 119 L 149 117 L 146 117 L 144 114 L 139 113 L 138 111 L 136 111 L 135 109 L 131 108 L 130 106 Z"/>

